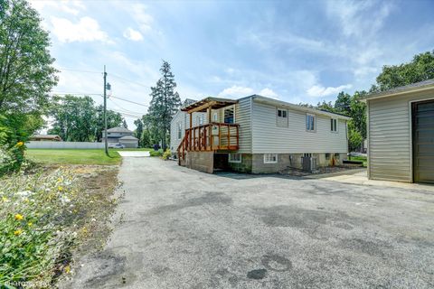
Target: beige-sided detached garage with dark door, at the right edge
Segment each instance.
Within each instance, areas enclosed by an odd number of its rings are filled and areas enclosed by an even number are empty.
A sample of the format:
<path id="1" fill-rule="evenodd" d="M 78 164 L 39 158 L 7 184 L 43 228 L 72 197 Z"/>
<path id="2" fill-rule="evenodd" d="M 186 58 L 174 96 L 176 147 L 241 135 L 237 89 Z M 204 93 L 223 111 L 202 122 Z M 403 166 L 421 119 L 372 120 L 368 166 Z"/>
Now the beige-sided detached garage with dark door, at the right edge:
<path id="1" fill-rule="evenodd" d="M 368 177 L 434 183 L 434 79 L 364 98 Z"/>

